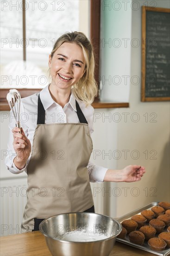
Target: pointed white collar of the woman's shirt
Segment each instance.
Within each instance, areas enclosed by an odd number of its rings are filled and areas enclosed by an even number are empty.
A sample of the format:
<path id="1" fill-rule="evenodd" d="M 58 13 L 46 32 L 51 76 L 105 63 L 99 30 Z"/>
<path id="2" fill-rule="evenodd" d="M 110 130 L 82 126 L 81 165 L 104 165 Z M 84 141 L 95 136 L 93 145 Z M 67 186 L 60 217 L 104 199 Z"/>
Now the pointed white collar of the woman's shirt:
<path id="1" fill-rule="evenodd" d="M 49 84 L 50 85 L 50 84 Z M 56 103 L 51 95 L 50 95 L 50 91 L 49 91 L 49 85 L 46 86 L 44 89 L 42 89 L 40 91 L 40 99 L 42 101 L 42 104 L 44 106 L 44 109 L 47 110 L 47 108 L 49 108 L 52 104 L 57 104 L 58 106 L 60 106 L 58 103 Z M 73 94 L 73 91 L 71 90 L 71 95 L 69 98 L 69 102 L 67 103 L 68 105 L 70 104 L 70 106 L 75 110 L 76 110 L 76 99 L 75 96 Z"/>

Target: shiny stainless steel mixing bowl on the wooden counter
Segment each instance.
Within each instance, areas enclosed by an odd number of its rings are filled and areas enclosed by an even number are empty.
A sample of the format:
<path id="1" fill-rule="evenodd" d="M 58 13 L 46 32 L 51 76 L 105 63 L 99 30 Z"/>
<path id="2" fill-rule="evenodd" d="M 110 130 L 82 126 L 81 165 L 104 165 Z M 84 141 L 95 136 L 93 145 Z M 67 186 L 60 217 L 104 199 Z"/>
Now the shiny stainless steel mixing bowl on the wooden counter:
<path id="1" fill-rule="evenodd" d="M 78 212 L 65 213 L 45 219 L 39 225 L 47 246 L 53 256 L 108 256 L 122 230 L 119 222 L 101 214 Z M 63 241 L 62 236 L 70 231 L 83 230 L 106 239 L 92 242 Z"/>

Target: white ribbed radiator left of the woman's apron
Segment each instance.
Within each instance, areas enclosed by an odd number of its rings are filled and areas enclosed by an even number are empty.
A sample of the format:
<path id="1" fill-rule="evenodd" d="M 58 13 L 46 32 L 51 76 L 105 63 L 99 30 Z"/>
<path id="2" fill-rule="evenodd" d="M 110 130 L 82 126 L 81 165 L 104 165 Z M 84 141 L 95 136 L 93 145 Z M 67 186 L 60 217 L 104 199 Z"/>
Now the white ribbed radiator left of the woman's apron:
<path id="1" fill-rule="evenodd" d="M 26 188 L 26 178 L 0 181 L 0 236 L 21 233 Z"/>

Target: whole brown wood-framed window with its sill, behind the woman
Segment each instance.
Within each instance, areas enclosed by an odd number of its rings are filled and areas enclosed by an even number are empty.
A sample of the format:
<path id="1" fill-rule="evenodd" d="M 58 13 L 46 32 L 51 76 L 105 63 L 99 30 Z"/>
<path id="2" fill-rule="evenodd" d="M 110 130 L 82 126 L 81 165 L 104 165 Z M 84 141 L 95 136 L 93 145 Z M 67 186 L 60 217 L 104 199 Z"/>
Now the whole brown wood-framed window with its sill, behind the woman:
<path id="1" fill-rule="evenodd" d="M 48 84 L 49 53 L 55 39 L 69 30 L 82 31 L 91 40 L 99 87 L 101 0 L 6 0 L 0 4 L 0 110 L 9 110 L 6 94 L 10 88 L 19 88 L 25 97 Z M 128 107 L 128 103 L 99 101 L 97 95 L 94 108 Z"/>

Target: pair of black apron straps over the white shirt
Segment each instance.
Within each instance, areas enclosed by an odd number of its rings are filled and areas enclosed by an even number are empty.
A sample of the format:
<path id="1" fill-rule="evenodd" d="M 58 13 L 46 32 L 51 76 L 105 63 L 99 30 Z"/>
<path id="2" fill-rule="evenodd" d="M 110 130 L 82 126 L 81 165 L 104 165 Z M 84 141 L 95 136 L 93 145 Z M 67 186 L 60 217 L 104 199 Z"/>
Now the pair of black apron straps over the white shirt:
<path id="1" fill-rule="evenodd" d="M 76 101 L 76 109 L 77 109 L 77 116 L 80 121 L 80 123 L 87 123 L 85 116 L 82 113 L 82 110 Z M 38 94 L 38 117 L 37 117 L 37 124 L 44 124 L 45 123 L 45 109 L 43 106 L 43 103 L 41 102 L 40 96 Z"/>

